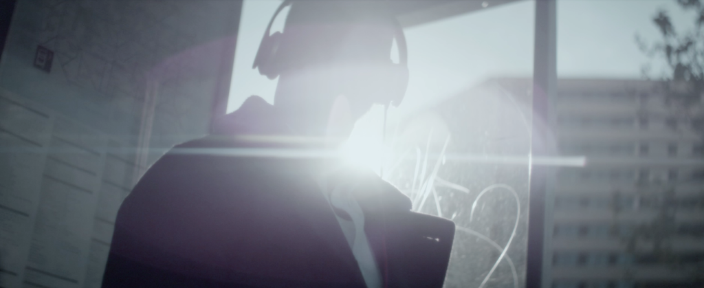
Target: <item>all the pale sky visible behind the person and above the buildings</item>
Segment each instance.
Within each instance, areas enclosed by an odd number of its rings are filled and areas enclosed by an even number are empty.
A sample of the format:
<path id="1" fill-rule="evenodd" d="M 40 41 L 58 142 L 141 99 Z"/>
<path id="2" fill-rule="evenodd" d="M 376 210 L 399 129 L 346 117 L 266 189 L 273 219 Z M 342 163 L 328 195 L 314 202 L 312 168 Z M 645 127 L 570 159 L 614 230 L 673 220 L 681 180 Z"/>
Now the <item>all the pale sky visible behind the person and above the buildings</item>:
<path id="1" fill-rule="evenodd" d="M 239 27 L 228 112 L 251 95 L 273 102 L 276 80 L 251 68 L 268 21 L 279 0 L 245 0 Z M 649 62 L 635 35 L 652 42 L 659 32 L 653 16 L 670 12 L 675 27 L 689 27 L 674 0 L 558 0 L 558 77 L 641 78 Z M 408 27 L 410 80 L 403 103 L 390 108 L 389 123 L 495 77 L 532 77 L 534 1 L 484 8 Z M 287 10 L 272 32 L 282 30 Z M 657 65 L 656 65 L 657 67 Z M 657 72 L 657 71 L 655 71 Z M 351 136 L 361 146 L 381 139 L 383 108 L 372 108 Z M 368 144 L 368 143 L 367 143 Z"/>

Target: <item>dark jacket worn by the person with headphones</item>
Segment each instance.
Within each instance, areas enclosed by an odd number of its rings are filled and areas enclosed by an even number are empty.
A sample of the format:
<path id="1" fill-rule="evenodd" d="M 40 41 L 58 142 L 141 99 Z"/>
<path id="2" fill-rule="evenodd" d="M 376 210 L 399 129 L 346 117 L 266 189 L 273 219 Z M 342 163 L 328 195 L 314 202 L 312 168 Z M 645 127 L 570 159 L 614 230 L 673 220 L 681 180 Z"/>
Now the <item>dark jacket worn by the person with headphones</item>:
<path id="1" fill-rule="evenodd" d="M 285 137 L 263 99 L 227 117 L 215 134 L 175 146 L 127 196 L 103 288 L 365 287 L 315 180 L 330 160 Z M 410 212 L 373 173 L 333 174 L 362 183 L 355 197 L 384 286 L 441 287 L 454 224 Z"/>

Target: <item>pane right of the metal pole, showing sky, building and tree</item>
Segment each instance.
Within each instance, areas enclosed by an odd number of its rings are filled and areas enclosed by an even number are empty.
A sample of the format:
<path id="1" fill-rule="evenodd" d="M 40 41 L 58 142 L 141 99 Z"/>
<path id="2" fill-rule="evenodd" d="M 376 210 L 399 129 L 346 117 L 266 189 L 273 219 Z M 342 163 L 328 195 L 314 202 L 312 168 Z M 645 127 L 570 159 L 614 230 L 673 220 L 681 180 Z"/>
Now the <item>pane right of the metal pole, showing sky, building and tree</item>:
<path id="1" fill-rule="evenodd" d="M 553 183 L 546 287 L 700 285 L 704 238 L 691 227 L 704 225 L 704 6 L 557 5 L 553 128 L 559 153 L 586 165 L 562 168 Z"/>

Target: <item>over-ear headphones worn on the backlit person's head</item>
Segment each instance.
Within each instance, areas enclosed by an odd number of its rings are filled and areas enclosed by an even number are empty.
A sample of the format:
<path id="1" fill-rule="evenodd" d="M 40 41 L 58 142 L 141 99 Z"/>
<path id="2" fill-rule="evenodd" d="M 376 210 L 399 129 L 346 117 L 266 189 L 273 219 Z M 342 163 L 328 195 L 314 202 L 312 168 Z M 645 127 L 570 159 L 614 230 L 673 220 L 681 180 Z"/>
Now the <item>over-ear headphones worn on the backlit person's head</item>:
<path id="1" fill-rule="evenodd" d="M 271 26 L 276 19 L 276 16 L 284 10 L 287 6 L 290 6 L 293 1 L 285 0 L 269 21 L 266 30 L 264 31 L 264 37 L 262 37 L 262 42 L 259 44 L 259 50 L 257 51 L 257 56 L 254 58 L 254 63 L 252 64 L 252 69 L 259 68 L 259 74 L 265 75 L 269 79 L 275 79 L 279 76 L 280 70 L 277 63 L 277 54 L 279 53 L 279 45 L 281 44 L 283 34 L 281 32 L 271 33 Z M 403 35 L 403 27 L 398 23 L 396 18 L 393 18 L 394 23 L 394 39 L 396 39 L 396 46 L 398 46 L 398 64 L 390 63 L 393 65 L 393 69 L 390 69 L 391 75 L 389 75 L 390 85 L 393 89 L 390 89 L 391 94 L 384 96 L 384 99 L 378 99 L 377 102 L 384 104 L 392 104 L 398 106 L 403 100 L 403 96 L 406 94 L 406 87 L 408 87 L 408 49 L 406 46 L 406 36 Z"/>

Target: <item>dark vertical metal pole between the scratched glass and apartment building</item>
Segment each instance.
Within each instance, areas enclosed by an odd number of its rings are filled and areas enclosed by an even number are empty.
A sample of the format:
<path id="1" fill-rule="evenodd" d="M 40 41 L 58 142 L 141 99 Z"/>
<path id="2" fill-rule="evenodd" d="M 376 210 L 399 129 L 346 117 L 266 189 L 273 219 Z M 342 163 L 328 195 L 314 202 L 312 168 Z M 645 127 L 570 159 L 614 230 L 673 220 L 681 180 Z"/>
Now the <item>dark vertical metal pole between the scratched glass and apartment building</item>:
<path id="1" fill-rule="evenodd" d="M 533 117 L 530 156 L 530 200 L 528 214 L 528 251 L 526 287 L 541 288 L 551 281 L 549 270 L 551 259 L 544 251 L 549 244 L 546 235 L 546 200 L 548 177 L 551 173 L 546 165 L 534 165 L 532 159 L 553 154 L 550 130 L 550 99 L 555 95 L 557 82 L 557 30 L 555 0 L 535 1 L 535 46 L 533 64 Z M 548 209 L 551 210 L 551 209 Z M 550 221 L 552 222 L 552 221 Z M 549 250 L 548 246 L 548 250 Z"/>

